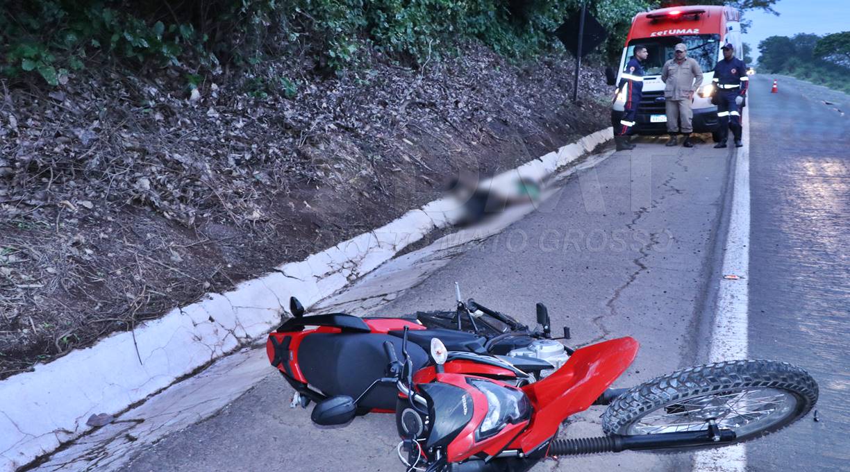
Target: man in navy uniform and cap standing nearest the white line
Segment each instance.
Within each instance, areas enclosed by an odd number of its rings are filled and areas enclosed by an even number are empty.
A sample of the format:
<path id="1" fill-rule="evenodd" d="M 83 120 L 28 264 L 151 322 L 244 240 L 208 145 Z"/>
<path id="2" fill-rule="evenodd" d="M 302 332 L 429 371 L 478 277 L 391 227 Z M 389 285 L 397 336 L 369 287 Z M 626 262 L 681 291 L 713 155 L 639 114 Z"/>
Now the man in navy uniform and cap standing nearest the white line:
<path id="1" fill-rule="evenodd" d="M 735 49 L 728 42 L 723 45 L 723 59 L 714 66 L 715 87 L 717 87 L 717 118 L 720 119 L 720 142 L 715 148 L 725 148 L 729 128 L 735 139 L 735 147 L 741 143 L 741 104 L 744 103 L 750 77 L 746 75 L 744 61 L 735 57 Z"/>

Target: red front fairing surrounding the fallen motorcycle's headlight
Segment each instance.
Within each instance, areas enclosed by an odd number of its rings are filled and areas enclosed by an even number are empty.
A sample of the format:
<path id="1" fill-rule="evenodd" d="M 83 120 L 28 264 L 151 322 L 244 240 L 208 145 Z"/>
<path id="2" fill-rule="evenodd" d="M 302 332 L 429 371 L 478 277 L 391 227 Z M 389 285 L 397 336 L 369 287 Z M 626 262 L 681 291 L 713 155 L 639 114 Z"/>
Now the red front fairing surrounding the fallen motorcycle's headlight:
<path id="1" fill-rule="evenodd" d="M 448 365 L 448 364 L 446 364 Z M 487 397 L 482 391 L 469 385 L 467 379 L 474 379 L 473 375 L 463 374 L 437 374 L 437 381 L 443 384 L 455 385 L 467 391 L 473 397 L 473 419 L 467 423 L 466 427 L 457 435 L 454 441 L 451 441 L 446 447 L 445 454 L 450 463 L 459 462 L 463 459 L 473 456 L 481 451 L 498 452 L 502 447 L 507 445 L 508 441 L 522 430 L 528 421 L 522 421 L 518 424 L 508 424 L 504 429 L 499 431 L 495 436 L 485 439 L 484 441 L 475 441 L 475 430 L 478 429 L 484 417 L 487 416 Z M 493 379 L 486 379 L 495 384 L 504 385 L 507 388 L 513 389 L 511 385 Z"/>

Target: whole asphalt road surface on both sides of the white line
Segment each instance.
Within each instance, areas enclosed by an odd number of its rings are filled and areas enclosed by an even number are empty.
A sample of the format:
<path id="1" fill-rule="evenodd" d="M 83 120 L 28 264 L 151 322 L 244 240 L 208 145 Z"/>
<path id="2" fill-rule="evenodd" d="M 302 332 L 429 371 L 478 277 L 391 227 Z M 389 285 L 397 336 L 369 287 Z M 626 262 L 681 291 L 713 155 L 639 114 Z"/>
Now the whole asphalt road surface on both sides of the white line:
<path id="1" fill-rule="evenodd" d="M 794 362 L 819 380 L 819 422 L 747 447 L 754 471 L 847 470 L 847 96 L 756 76 L 751 92 L 750 357 Z M 834 102 L 824 104 L 821 99 Z M 661 141 L 663 143 L 663 141 Z M 573 344 L 632 335 L 642 344 L 615 386 L 704 362 L 720 278 L 734 149 L 666 148 L 648 139 L 568 179 L 541 208 L 497 236 L 467 244 L 376 314 L 452 306 L 465 296 L 531 323 L 549 307 Z M 357 299 L 355 293 L 348 299 Z M 365 289 L 361 289 L 364 292 Z M 217 416 L 168 435 L 127 466 L 132 472 L 400 470 L 389 415 L 319 428 L 290 409 L 276 374 Z M 598 435 L 601 409 L 562 435 Z M 562 458 L 535 470 L 689 470 L 689 453 Z"/>

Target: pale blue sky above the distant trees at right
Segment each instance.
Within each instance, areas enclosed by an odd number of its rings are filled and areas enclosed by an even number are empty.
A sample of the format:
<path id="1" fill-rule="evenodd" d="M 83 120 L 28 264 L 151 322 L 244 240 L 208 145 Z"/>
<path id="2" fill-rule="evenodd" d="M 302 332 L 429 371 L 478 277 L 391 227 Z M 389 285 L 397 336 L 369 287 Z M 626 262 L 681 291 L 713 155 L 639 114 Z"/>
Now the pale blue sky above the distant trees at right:
<path id="1" fill-rule="evenodd" d="M 797 33 L 829 33 L 850 31 L 850 0 L 779 0 L 774 5 L 779 16 L 762 10 L 744 14 L 752 25 L 744 35 L 751 46 L 751 56 L 758 60 L 758 43 L 772 36 L 792 37 Z"/>

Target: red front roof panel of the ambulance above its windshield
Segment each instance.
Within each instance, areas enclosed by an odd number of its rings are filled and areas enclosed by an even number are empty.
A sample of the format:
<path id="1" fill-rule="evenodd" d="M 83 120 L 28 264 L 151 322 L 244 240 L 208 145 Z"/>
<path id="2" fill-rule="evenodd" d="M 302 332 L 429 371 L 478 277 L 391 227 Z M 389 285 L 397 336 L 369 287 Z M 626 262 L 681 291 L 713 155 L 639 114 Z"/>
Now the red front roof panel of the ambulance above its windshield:
<path id="1" fill-rule="evenodd" d="M 689 11 L 705 10 L 699 16 L 689 15 Z M 729 10 L 729 11 L 727 11 Z M 679 12 L 679 13 L 676 13 Z M 647 15 L 666 15 L 650 19 Z M 736 18 L 737 10 L 717 6 L 687 6 L 660 8 L 651 12 L 639 13 L 632 21 L 632 29 L 626 38 L 626 45 L 632 39 L 682 35 L 723 35 L 728 18 Z"/>

